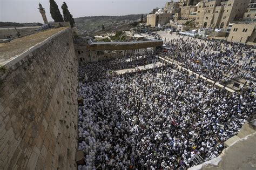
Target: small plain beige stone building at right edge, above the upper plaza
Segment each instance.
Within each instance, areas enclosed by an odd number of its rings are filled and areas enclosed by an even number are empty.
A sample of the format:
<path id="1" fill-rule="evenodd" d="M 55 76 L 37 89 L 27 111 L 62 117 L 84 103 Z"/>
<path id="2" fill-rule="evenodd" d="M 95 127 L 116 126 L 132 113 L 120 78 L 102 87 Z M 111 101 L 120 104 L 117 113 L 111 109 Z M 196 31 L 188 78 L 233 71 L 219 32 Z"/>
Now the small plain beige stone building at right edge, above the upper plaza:
<path id="1" fill-rule="evenodd" d="M 227 41 L 255 45 L 256 23 L 233 23 Z"/>

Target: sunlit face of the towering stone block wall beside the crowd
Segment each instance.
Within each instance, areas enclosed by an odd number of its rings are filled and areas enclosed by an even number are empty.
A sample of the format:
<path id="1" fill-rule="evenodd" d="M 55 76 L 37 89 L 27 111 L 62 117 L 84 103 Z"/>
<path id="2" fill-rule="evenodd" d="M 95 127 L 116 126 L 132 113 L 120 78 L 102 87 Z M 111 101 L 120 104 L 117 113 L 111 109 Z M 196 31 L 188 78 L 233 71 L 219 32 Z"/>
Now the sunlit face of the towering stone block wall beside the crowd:
<path id="1" fill-rule="evenodd" d="M 5 64 L 0 76 L 0 169 L 75 169 L 78 61 L 71 30 Z"/>

